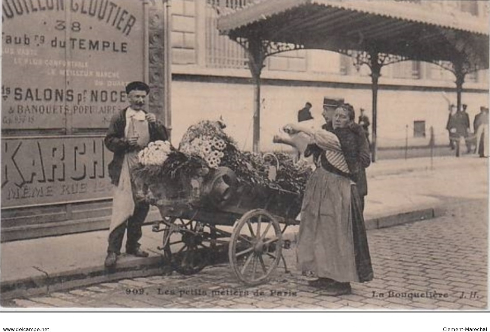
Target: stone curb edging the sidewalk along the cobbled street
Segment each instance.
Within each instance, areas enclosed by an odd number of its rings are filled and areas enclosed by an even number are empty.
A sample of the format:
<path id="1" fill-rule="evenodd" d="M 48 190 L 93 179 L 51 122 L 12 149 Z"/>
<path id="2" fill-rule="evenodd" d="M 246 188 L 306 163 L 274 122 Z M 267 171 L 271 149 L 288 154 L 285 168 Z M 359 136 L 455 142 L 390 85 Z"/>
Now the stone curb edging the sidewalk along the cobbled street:
<path id="1" fill-rule="evenodd" d="M 366 220 L 366 229 L 381 229 L 431 219 L 441 216 L 443 213 L 444 211 L 441 208 L 426 208 L 371 218 Z M 296 242 L 297 233 L 286 233 L 283 239 Z M 41 277 L 4 281 L 0 284 L 0 298 L 2 301 L 5 301 L 13 298 L 43 295 L 54 291 L 114 282 L 121 279 L 148 277 L 168 272 L 168 265 L 165 264 L 162 257 L 132 258 L 128 261 L 121 261 L 118 263 L 117 268 L 113 270 L 108 270 L 103 265 L 96 265 L 52 274 L 46 273 L 46 276 Z"/>

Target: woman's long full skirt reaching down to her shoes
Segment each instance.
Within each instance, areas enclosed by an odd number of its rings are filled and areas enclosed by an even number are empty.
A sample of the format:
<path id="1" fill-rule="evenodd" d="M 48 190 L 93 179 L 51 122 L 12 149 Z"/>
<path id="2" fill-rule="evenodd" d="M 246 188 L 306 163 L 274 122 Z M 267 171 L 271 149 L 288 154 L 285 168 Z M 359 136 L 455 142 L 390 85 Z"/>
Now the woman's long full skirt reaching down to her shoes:
<path id="1" fill-rule="evenodd" d="M 299 225 L 298 268 L 338 282 L 372 280 L 357 188 L 318 167 L 306 186 Z"/>

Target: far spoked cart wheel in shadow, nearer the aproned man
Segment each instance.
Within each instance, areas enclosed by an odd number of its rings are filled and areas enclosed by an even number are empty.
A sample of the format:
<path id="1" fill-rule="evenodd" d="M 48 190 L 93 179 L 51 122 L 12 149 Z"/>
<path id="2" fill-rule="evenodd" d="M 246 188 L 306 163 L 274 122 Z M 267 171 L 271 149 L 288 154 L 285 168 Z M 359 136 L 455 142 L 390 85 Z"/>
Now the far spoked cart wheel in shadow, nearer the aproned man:
<path id="1" fill-rule="evenodd" d="M 168 228 L 163 238 L 168 240 L 163 248 L 165 258 L 180 274 L 192 275 L 202 270 L 210 260 L 214 246 L 214 232 L 209 225 L 199 221 L 172 218 L 178 231 Z"/>

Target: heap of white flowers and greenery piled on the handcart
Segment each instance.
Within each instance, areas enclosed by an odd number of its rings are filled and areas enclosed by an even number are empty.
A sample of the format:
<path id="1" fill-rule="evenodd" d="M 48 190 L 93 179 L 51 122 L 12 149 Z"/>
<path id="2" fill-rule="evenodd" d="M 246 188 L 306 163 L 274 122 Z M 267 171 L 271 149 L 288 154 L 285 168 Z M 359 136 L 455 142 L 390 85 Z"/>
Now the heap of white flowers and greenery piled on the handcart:
<path id="1" fill-rule="evenodd" d="M 302 194 L 311 168 L 294 163 L 286 153 L 251 153 L 240 151 L 237 143 L 224 131 L 220 121 L 203 120 L 188 128 L 179 148 L 169 142 L 151 142 L 139 152 L 139 165 L 133 174 L 146 182 L 179 177 L 205 176 L 210 169 L 226 166 L 239 182 L 268 186 Z M 275 178 L 270 166 L 278 166 Z"/>

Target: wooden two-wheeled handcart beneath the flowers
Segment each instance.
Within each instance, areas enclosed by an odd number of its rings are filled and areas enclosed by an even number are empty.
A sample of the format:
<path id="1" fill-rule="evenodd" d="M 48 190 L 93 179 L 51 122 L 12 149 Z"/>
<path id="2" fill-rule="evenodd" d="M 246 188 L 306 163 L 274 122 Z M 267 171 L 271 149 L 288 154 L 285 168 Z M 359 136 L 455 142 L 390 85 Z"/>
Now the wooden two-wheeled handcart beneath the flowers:
<path id="1" fill-rule="evenodd" d="M 247 285 L 258 285 L 284 261 L 283 233 L 289 225 L 298 224 L 301 195 L 239 183 L 227 167 L 148 187 L 148 201 L 162 215 L 152 228 L 163 232 L 158 249 L 175 271 L 197 273 L 227 248 L 236 277 Z"/>

